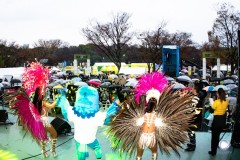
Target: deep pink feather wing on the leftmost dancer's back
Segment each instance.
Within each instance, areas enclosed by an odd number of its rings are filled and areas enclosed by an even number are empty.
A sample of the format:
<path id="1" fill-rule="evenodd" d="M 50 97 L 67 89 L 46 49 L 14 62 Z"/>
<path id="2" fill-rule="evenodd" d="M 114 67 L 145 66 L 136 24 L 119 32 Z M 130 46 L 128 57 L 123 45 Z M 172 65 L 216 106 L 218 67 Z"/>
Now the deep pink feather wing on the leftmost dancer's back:
<path id="1" fill-rule="evenodd" d="M 10 108 L 17 109 L 17 114 L 24 129 L 29 131 L 37 142 L 47 140 L 48 138 L 41 121 L 41 115 L 30 101 L 27 92 L 23 88 L 20 88 L 16 92 L 5 96 L 7 97 L 6 99 L 9 102 Z"/>

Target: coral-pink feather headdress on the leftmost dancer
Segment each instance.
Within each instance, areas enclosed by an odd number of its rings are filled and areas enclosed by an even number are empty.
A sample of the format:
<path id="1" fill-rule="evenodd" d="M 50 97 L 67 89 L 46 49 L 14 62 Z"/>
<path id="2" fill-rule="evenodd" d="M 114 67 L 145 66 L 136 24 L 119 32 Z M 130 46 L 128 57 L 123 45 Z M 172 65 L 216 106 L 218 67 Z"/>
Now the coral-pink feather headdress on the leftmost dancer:
<path id="1" fill-rule="evenodd" d="M 39 62 L 32 62 L 26 67 L 22 75 L 22 85 L 30 96 L 37 87 L 40 87 L 41 95 L 45 92 L 48 85 L 49 70 Z"/>

